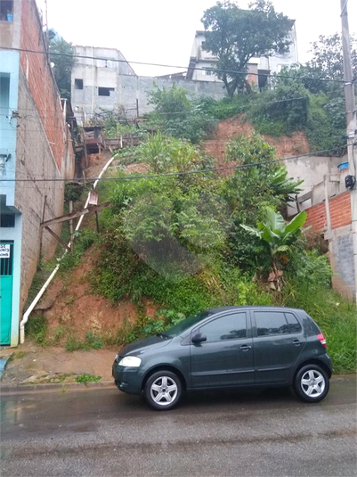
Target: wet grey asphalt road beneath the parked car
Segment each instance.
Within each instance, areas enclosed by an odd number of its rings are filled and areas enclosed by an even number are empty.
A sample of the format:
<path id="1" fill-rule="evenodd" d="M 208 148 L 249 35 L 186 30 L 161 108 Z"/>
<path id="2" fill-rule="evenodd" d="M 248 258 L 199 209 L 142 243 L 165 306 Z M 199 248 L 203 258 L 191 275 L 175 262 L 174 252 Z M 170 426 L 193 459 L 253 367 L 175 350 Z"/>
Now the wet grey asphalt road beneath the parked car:
<path id="1" fill-rule="evenodd" d="M 157 412 L 116 388 L 2 396 L 6 477 L 357 475 L 356 380 L 320 404 L 288 390 L 199 393 Z"/>

